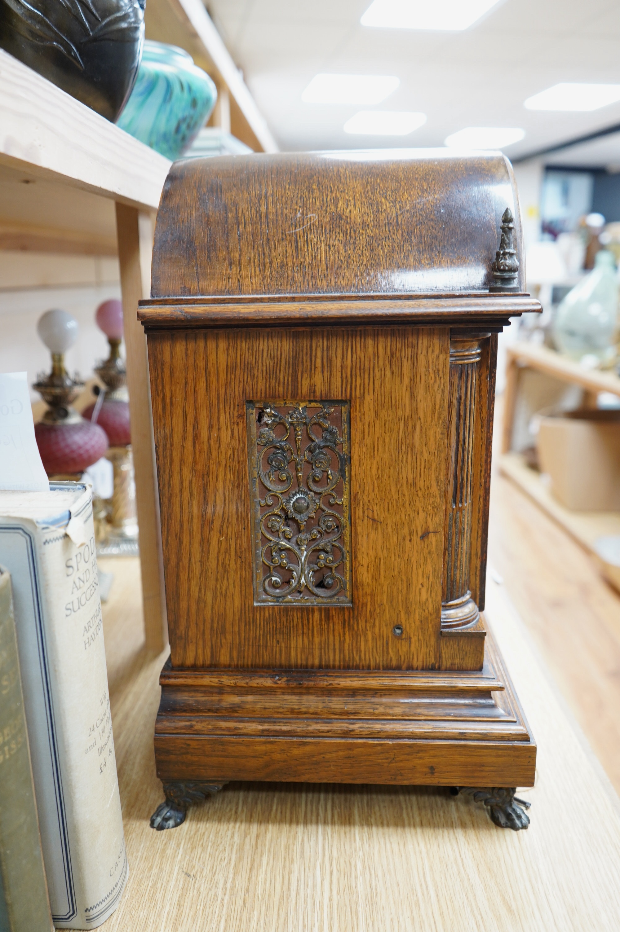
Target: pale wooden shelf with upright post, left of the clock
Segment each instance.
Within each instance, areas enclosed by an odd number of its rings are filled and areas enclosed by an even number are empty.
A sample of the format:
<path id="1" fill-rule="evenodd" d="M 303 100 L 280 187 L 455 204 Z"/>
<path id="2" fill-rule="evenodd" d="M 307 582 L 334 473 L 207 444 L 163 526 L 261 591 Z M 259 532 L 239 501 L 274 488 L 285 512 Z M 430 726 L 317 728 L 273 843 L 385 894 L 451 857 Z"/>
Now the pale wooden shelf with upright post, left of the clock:
<path id="1" fill-rule="evenodd" d="M 150 292 L 152 214 L 172 163 L 2 50 L 0 114 L 2 245 L 76 254 L 111 254 L 117 247 L 145 636 L 149 648 L 161 650 L 165 603 L 157 475 L 145 335 L 136 311 Z"/>

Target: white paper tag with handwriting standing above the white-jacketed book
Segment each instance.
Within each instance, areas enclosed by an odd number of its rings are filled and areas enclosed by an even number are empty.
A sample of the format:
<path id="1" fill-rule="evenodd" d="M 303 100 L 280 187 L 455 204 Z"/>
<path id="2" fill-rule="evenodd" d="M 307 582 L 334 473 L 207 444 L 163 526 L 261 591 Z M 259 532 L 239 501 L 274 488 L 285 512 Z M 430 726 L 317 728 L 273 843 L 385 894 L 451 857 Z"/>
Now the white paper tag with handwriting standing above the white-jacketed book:
<path id="1" fill-rule="evenodd" d="M 49 491 L 25 372 L 0 373 L 0 489 Z"/>

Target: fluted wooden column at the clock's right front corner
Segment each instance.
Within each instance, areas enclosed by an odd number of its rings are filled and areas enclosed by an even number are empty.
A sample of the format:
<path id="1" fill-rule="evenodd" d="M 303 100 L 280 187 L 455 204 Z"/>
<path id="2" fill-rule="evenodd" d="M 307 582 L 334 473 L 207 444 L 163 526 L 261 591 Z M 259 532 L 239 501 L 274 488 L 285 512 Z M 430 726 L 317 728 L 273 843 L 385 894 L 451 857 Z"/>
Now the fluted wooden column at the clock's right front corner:
<path id="1" fill-rule="evenodd" d="M 469 627 L 479 611 L 469 588 L 472 542 L 475 392 L 481 337 L 452 336 L 448 399 L 448 476 L 444 523 L 443 629 Z"/>

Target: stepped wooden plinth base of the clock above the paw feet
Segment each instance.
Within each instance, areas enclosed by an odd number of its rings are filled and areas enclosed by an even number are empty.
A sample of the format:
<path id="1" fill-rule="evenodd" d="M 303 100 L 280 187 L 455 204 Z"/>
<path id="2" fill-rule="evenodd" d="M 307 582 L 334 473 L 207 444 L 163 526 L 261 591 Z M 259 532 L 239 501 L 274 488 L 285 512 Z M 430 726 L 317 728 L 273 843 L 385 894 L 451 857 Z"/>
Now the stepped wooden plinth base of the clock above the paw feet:
<path id="1" fill-rule="evenodd" d="M 536 748 L 492 637 L 480 673 L 172 669 L 158 777 L 531 786 Z"/>

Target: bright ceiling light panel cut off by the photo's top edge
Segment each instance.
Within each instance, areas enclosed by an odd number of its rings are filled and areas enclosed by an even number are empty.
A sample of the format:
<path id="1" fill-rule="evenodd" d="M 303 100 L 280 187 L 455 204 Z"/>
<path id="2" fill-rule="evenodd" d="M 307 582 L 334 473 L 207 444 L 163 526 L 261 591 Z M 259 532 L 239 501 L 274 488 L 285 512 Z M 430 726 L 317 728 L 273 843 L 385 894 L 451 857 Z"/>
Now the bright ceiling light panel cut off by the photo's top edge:
<path id="1" fill-rule="evenodd" d="M 374 0 L 363 26 L 380 29 L 469 29 L 499 0 Z"/>

